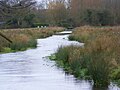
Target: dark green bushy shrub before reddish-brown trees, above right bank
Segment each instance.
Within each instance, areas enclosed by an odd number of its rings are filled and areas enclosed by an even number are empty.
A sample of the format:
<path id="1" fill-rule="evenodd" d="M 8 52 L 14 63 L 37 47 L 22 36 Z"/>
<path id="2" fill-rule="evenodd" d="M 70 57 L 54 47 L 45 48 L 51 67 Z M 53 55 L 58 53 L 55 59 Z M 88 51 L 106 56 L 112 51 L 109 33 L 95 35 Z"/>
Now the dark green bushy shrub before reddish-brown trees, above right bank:
<path id="1" fill-rule="evenodd" d="M 83 22 L 88 25 L 111 25 L 113 24 L 112 14 L 107 10 L 85 10 Z"/>

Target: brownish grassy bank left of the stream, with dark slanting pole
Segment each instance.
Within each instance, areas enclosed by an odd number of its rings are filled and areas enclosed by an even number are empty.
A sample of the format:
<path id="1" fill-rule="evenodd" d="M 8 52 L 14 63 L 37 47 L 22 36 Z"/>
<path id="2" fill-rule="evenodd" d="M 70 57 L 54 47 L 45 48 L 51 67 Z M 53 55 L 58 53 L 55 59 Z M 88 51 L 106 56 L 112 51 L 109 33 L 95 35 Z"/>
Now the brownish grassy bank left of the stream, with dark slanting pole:
<path id="1" fill-rule="evenodd" d="M 60 27 L 0 30 L 3 35 L 12 41 L 12 43 L 9 43 L 5 38 L 0 36 L 0 53 L 35 48 L 37 44 L 36 39 L 51 36 L 62 30 L 64 30 L 64 28 Z"/>

